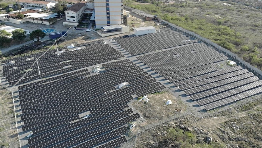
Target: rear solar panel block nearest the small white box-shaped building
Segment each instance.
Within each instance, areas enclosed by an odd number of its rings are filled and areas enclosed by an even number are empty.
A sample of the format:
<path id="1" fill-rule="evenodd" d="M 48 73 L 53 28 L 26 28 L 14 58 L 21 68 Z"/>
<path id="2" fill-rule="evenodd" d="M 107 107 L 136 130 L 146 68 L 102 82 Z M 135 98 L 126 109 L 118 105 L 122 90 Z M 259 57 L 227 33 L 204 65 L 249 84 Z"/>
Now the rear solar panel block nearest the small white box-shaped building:
<path id="1" fill-rule="evenodd" d="M 115 40 L 131 55 L 197 42 L 197 40 L 190 40 L 190 37 L 186 37 L 181 32 L 170 31 L 170 29 L 141 36 L 117 38 Z"/>

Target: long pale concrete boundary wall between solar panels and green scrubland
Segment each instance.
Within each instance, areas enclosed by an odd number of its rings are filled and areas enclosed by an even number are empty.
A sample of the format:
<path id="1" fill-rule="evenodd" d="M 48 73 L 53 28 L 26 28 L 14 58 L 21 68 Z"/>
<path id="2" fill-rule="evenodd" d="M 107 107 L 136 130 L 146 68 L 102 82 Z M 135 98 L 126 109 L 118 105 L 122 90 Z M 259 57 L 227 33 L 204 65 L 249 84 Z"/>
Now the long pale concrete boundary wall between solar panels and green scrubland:
<path id="1" fill-rule="evenodd" d="M 131 7 L 127 7 L 124 6 L 127 9 L 133 10 L 133 8 Z M 188 31 L 182 27 L 178 27 L 175 24 L 169 23 L 168 21 L 159 19 L 159 21 L 168 24 L 169 26 L 173 27 L 175 30 L 182 32 L 183 34 L 187 35 L 187 36 L 191 36 L 192 38 L 195 38 L 199 41 L 204 42 L 206 45 L 211 46 L 212 48 L 214 48 L 215 50 L 219 51 L 220 53 L 223 53 L 224 55 L 226 55 L 227 57 L 230 58 L 230 60 L 235 61 L 238 65 L 241 65 L 243 68 L 247 68 L 250 72 L 254 73 L 256 76 L 258 77 L 262 77 L 262 71 L 254 66 L 252 66 L 250 63 L 247 63 L 246 61 L 242 60 L 240 57 L 238 57 L 237 54 L 234 54 L 232 52 L 230 52 L 229 50 L 217 45 L 216 43 L 208 40 L 207 38 L 203 38 L 200 35 L 195 34 L 194 32 Z"/>

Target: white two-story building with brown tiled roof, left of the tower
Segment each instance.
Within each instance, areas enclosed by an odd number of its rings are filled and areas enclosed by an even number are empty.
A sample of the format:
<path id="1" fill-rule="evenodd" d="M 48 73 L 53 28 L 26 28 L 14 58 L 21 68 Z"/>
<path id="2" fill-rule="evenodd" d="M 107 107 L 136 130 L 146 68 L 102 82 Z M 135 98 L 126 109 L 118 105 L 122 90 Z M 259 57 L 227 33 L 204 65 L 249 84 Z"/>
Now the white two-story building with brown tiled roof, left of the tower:
<path id="1" fill-rule="evenodd" d="M 78 25 L 78 21 L 83 16 L 83 13 L 85 11 L 85 1 L 81 1 L 77 4 L 74 4 L 73 6 L 69 7 L 65 13 L 66 13 L 66 22 L 63 22 L 64 25 Z"/>

